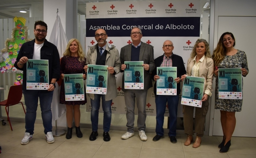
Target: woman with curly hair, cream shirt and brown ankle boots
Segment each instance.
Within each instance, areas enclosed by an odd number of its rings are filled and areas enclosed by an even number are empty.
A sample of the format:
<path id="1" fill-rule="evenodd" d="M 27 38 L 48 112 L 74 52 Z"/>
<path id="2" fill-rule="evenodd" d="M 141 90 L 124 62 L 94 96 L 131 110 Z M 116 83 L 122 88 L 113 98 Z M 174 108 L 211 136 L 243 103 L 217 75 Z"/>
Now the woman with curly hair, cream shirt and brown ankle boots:
<path id="1" fill-rule="evenodd" d="M 196 107 L 195 123 L 193 123 L 194 106 L 183 105 L 184 131 L 187 134 L 187 140 L 184 145 L 190 145 L 193 142 L 194 133 L 197 133 L 193 148 L 198 148 L 201 144 L 201 137 L 204 135 L 204 123 L 209 108 L 209 97 L 213 91 L 213 60 L 211 59 L 209 44 L 205 39 L 198 39 L 194 44 L 190 59 L 187 61 L 187 73 L 181 76 L 181 79 L 184 80 L 186 76 L 204 78 L 204 92 L 201 98 L 203 102 L 201 108 Z M 195 125 L 194 130 L 193 125 Z"/>

